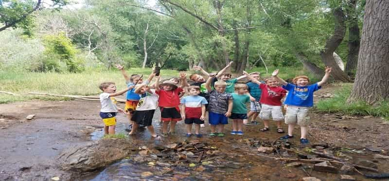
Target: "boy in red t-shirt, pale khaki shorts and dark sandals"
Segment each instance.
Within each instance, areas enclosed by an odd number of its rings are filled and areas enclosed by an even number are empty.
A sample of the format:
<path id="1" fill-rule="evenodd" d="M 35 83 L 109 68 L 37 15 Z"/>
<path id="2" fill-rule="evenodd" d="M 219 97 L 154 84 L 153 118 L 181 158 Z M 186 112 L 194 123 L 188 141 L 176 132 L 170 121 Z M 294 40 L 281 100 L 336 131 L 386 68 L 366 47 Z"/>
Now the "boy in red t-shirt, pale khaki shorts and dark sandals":
<path id="1" fill-rule="evenodd" d="M 247 72 L 243 73 L 247 74 Z M 269 119 L 271 115 L 273 121 L 276 121 L 277 123 L 277 132 L 284 133 L 285 131 L 281 126 L 281 121 L 283 120 L 281 99 L 285 96 L 286 90 L 278 86 L 277 79 L 274 77 L 266 78 L 266 84 L 261 83 L 251 75 L 248 75 L 248 77 L 252 82 L 258 84 L 259 88 L 262 90 L 260 99 L 262 109 L 259 113 L 259 118 L 264 120 L 264 127 L 261 128 L 260 131 L 269 130 Z"/>

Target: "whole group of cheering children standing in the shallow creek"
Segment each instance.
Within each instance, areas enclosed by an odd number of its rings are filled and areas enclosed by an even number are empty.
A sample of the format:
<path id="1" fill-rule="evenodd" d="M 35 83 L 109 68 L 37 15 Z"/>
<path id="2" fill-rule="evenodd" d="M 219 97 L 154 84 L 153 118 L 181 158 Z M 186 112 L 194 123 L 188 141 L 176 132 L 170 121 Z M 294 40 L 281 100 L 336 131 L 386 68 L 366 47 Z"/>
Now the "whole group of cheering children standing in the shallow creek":
<path id="1" fill-rule="evenodd" d="M 328 80 L 331 68 L 326 68 L 320 82 L 308 85 L 307 76 L 297 76 L 291 84 L 277 76 L 278 70 L 275 70 L 271 77 L 266 78 L 265 82 L 259 81 L 259 72 L 249 74 L 244 71 L 242 76 L 231 79 L 231 74 L 225 73 L 231 63 L 218 73 L 211 74 L 195 66 L 194 69 L 201 71 L 208 76 L 208 79 L 200 74 L 192 74 L 189 78 L 193 83 L 190 85 L 185 73 L 180 73 L 179 79 L 172 78 L 160 83 L 160 76 L 152 72 L 143 82 L 142 75 L 128 76 L 123 66 L 118 65 L 117 68 L 122 72 L 127 88 L 116 92 L 113 82 L 103 82 L 100 85 L 100 89 L 103 90 L 100 94 L 102 105 L 100 116 L 105 124 L 105 133 L 115 134 L 115 116 L 119 111 L 128 115 L 132 125 L 129 135 L 133 135 L 141 125 L 147 127 L 152 137 L 158 137 L 152 126 L 152 119 L 155 110 L 159 108 L 163 136 L 175 135 L 177 121 L 183 119 L 186 125 L 186 137 L 193 135 L 193 124 L 195 124 L 195 137 L 202 137 L 200 127 L 204 125 L 206 111 L 208 111 L 210 136 L 225 136 L 224 127 L 228 124 L 229 118 L 232 119 L 230 132 L 232 135 L 243 135 L 243 125 L 250 126 L 248 123 L 250 117 L 251 123 L 256 123 L 257 116 L 264 121 L 264 127 L 260 131 L 268 131 L 271 116 L 277 123 L 277 132 L 284 133 L 281 121 L 284 120 L 288 125 L 288 134 L 280 139 L 293 138 L 294 126 L 298 124 L 301 127 L 300 141 L 302 144 L 307 144 L 308 109 L 313 106 L 313 92 L 320 89 L 320 86 Z M 150 84 L 154 77 L 157 77 L 155 83 Z M 238 80 L 246 77 L 250 80 L 249 83 L 237 83 Z M 125 92 L 127 92 L 125 109 L 118 109 L 114 97 Z M 184 94 L 188 95 L 182 97 Z M 283 116 L 282 99 L 285 96 L 284 105 L 287 108 Z M 248 113 L 247 103 L 250 103 Z"/>

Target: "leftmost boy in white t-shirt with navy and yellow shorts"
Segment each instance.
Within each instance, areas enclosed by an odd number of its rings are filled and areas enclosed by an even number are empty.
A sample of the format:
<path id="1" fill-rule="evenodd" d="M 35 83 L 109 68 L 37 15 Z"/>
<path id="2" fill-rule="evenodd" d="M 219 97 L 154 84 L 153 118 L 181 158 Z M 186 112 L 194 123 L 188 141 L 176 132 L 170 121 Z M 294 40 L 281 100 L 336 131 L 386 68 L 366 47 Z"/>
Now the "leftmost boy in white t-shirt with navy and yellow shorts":
<path id="1" fill-rule="evenodd" d="M 115 134 L 116 127 L 116 113 L 124 112 L 123 109 L 116 107 L 115 96 L 121 95 L 124 92 L 132 89 L 133 87 L 128 87 L 125 90 L 116 92 L 116 86 L 114 82 L 103 82 L 99 86 L 100 90 L 103 90 L 103 93 L 100 94 L 100 117 L 103 118 L 104 122 L 104 133 L 105 134 Z"/>

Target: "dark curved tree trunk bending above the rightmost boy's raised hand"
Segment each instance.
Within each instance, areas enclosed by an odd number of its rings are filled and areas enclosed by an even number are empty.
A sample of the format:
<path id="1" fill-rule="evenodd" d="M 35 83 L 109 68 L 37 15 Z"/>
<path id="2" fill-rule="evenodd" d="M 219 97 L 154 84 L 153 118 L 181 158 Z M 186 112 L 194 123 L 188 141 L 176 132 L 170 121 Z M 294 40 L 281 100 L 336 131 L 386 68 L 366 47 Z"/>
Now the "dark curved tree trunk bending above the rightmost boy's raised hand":
<path id="1" fill-rule="evenodd" d="M 332 67 L 331 75 L 336 79 L 343 82 L 350 82 L 350 77 L 343 72 L 337 64 L 334 57 L 334 52 L 339 44 L 342 42 L 346 33 L 346 25 L 344 23 L 345 16 L 340 7 L 334 10 L 335 17 L 335 31 L 334 35 L 331 36 L 324 47 L 324 50 L 320 52 L 321 60 L 324 65 Z"/>

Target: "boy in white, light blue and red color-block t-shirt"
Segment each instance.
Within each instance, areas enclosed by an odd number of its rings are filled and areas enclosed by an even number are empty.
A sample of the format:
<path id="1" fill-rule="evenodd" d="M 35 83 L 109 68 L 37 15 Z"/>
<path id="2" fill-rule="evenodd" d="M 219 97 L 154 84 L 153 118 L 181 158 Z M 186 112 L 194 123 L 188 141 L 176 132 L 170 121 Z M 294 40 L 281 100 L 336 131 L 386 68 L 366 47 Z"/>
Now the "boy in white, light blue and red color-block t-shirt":
<path id="1" fill-rule="evenodd" d="M 203 137 L 200 134 L 200 125 L 204 124 L 205 120 L 205 105 L 208 101 L 204 97 L 199 96 L 200 87 L 189 86 L 189 96 L 185 96 L 181 99 L 182 105 L 181 117 L 185 119 L 186 124 L 186 137 L 192 136 L 192 125 L 195 123 L 195 135 L 197 138 Z"/>

